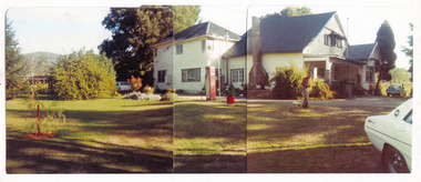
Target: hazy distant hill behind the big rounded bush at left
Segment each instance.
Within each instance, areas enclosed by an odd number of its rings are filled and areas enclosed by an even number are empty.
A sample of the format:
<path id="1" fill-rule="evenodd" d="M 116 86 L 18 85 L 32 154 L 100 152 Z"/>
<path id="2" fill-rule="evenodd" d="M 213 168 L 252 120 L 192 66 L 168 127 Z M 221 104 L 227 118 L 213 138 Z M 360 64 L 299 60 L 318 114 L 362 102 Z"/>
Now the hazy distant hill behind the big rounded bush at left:
<path id="1" fill-rule="evenodd" d="M 24 53 L 25 74 L 47 75 L 61 54 L 52 52 Z"/>

